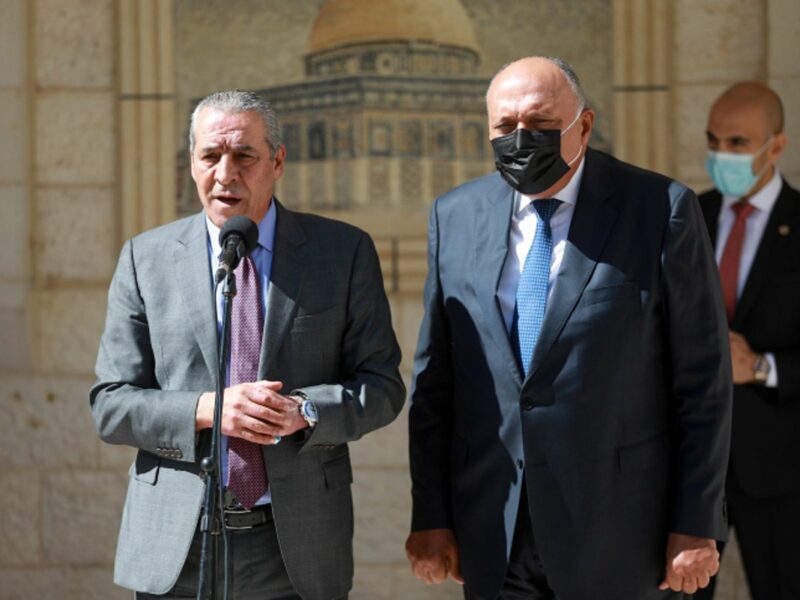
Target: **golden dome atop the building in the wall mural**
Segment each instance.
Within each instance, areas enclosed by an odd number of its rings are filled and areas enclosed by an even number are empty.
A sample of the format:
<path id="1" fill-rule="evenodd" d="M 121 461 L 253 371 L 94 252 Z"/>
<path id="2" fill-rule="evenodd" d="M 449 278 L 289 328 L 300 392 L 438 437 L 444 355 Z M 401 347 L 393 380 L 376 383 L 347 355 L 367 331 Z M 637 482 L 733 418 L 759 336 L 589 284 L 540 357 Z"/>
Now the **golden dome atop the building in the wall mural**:
<path id="1" fill-rule="evenodd" d="M 325 0 L 308 38 L 308 54 L 386 41 L 427 41 L 478 51 L 459 0 Z"/>

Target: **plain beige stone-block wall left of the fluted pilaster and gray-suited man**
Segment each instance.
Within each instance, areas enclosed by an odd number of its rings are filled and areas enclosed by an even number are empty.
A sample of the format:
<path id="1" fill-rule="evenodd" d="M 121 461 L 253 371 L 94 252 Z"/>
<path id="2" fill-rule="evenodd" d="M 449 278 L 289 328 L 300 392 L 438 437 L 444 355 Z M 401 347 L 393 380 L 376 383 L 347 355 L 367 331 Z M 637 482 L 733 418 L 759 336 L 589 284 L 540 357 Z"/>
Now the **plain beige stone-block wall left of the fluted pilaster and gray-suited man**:
<path id="1" fill-rule="evenodd" d="M 0 594 L 123 598 L 126 476 L 87 402 L 119 247 L 116 3 L 0 0 L 0 14 Z"/>

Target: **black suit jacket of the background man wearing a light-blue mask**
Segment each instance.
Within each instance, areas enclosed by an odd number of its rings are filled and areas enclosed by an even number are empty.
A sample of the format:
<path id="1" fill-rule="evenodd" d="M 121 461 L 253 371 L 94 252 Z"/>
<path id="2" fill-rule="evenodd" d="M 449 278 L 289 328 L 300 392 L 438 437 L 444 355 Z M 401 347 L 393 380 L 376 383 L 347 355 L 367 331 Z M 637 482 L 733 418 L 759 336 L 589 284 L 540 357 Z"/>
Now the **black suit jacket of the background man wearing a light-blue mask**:
<path id="1" fill-rule="evenodd" d="M 700 196 L 716 243 L 722 196 Z M 752 498 L 800 493 L 800 193 L 784 181 L 731 329 L 772 352 L 778 387 L 737 385 L 729 485 Z"/>

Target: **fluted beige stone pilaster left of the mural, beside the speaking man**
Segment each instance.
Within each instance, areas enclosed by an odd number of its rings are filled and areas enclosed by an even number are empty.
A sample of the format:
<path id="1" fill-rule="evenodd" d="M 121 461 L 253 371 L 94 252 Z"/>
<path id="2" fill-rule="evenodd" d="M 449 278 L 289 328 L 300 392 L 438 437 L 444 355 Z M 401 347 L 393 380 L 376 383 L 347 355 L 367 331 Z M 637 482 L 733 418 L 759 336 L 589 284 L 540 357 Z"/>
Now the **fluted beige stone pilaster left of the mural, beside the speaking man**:
<path id="1" fill-rule="evenodd" d="M 172 0 L 119 0 L 122 238 L 175 218 Z"/>

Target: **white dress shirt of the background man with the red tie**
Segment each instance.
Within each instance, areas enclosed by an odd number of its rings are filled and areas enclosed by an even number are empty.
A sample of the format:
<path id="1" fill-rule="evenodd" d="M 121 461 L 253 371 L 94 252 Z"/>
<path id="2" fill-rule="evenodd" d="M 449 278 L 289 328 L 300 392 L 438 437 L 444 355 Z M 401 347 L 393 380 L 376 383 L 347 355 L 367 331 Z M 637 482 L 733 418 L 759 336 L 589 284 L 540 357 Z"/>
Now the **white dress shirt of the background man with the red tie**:
<path id="1" fill-rule="evenodd" d="M 742 254 L 739 258 L 739 280 L 736 285 L 737 300 L 741 297 L 742 290 L 744 290 L 744 285 L 747 282 L 747 277 L 750 275 L 750 268 L 753 266 L 756 252 L 758 252 L 758 246 L 761 244 L 761 238 L 764 237 L 769 215 L 772 213 L 772 208 L 775 206 L 778 195 L 781 193 L 781 187 L 783 187 L 781 174 L 778 172 L 778 169 L 775 169 L 775 173 L 772 179 L 769 180 L 769 183 L 750 198 L 749 203 L 755 210 L 750 214 L 745 223 Z M 720 260 L 722 260 L 722 252 L 725 250 L 728 236 L 736 221 L 736 215 L 731 207 L 740 199 L 741 198 L 738 196 L 722 196 L 722 205 L 720 206 L 719 220 L 717 222 L 717 265 L 719 265 Z M 775 364 L 775 356 L 771 352 L 766 352 L 764 353 L 764 357 L 769 362 L 770 367 L 767 387 L 777 387 L 778 369 Z"/>

